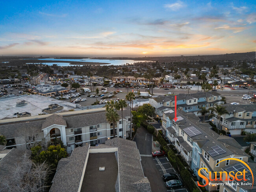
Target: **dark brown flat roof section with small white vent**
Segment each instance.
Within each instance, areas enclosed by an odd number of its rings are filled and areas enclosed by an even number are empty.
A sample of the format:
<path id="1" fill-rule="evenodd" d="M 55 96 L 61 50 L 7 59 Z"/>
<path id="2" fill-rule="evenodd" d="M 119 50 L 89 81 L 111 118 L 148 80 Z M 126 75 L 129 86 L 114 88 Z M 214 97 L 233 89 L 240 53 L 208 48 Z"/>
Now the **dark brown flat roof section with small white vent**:
<path id="1" fill-rule="evenodd" d="M 99 171 L 105 167 L 105 171 Z M 115 153 L 90 153 L 83 177 L 81 192 L 115 192 L 118 164 Z"/>

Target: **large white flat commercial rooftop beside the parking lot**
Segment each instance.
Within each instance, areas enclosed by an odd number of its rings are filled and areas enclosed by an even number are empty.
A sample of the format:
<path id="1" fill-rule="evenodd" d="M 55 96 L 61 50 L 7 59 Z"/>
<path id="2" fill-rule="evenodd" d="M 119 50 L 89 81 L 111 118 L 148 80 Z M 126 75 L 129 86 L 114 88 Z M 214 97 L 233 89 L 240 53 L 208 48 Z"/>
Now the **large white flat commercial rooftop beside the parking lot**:
<path id="1" fill-rule="evenodd" d="M 16 104 L 17 102 L 20 102 L 22 100 L 25 100 L 25 103 L 28 103 L 26 105 L 17 107 Z M 50 104 L 58 104 L 60 106 L 63 106 L 63 109 L 58 111 L 68 111 L 70 109 L 76 108 L 76 104 L 70 103 L 70 102 L 65 102 L 61 100 L 56 100 L 54 98 L 48 98 L 45 96 L 40 96 L 40 95 L 21 95 L 21 96 L 16 96 L 12 98 L 6 98 L 6 99 L 1 99 L 0 100 L 0 119 L 9 117 L 17 117 L 17 115 L 13 115 L 14 113 L 23 113 L 23 112 L 28 112 L 31 113 L 31 116 L 35 116 L 38 114 L 43 113 L 42 110 L 45 108 L 48 108 L 48 105 Z"/>

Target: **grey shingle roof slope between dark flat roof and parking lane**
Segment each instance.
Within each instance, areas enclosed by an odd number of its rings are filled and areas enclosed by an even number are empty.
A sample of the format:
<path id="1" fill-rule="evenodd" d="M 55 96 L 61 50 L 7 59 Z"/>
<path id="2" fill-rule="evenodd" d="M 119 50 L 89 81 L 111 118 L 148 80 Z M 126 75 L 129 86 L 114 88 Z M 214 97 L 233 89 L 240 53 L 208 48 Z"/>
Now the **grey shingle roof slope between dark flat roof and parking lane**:
<path id="1" fill-rule="evenodd" d="M 141 157 L 136 143 L 116 137 L 105 142 L 107 146 L 118 147 L 119 182 L 121 192 L 150 192 L 150 183 L 144 177 Z"/>

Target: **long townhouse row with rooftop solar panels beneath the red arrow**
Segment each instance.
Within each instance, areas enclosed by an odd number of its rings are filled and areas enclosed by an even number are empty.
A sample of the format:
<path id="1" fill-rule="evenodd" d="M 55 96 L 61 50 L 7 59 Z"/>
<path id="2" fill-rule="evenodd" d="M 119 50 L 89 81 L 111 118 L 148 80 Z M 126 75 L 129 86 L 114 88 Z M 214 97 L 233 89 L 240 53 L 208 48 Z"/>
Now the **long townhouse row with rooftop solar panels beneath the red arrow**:
<path id="1" fill-rule="evenodd" d="M 206 180 L 198 176 L 200 168 L 207 168 L 208 171 L 203 169 L 200 173 L 210 181 L 210 179 L 213 180 L 215 178 L 215 174 L 217 179 L 220 176 L 224 177 L 225 175 L 220 175 L 220 171 L 237 166 L 237 161 L 225 159 L 234 158 L 248 162 L 250 156 L 243 151 L 243 148 L 234 138 L 218 135 L 210 129 L 209 124 L 199 123 L 199 118 L 195 114 L 178 111 L 178 120 L 175 122 L 173 118 L 173 110 L 169 109 L 163 112 L 162 126 L 167 129 L 167 138 L 175 146 L 178 154 L 181 155 L 202 184 L 205 185 Z M 220 162 L 222 160 L 225 161 Z M 241 165 L 240 163 L 239 166 Z M 231 171 L 231 169 L 228 170 Z M 214 174 L 213 172 L 216 173 Z M 214 184 L 219 183 L 219 181 L 210 182 Z M 238 192 L 243 186 L 240 188 L 238 186 L 224 186 L 224 188 L 228 192 Z M 221 189 L 220 185 L 213 184 L 206 186 L 207 191 L 224 191 L 224 188 Z"/>

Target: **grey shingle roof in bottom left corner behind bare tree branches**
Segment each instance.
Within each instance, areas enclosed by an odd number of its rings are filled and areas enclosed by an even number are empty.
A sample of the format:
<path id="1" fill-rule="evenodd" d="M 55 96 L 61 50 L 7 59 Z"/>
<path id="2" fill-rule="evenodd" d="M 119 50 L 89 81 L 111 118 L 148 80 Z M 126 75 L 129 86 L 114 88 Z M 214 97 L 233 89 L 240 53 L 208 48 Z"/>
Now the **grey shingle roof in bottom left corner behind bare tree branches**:
<path id="1" fill-rule="evenodd" d="M 12 148 L 7 155 L 0 160 L 0 189 L 1 192 L 7 192 L 9 191 L 8 189 L 4 189 L 6 187 L 4 183 L 9 183 L 9 185 L 17 185 L 20 180 L 19 178 L 15 175 L 15 170 L 17 169 L 17 166 L 19 163 L 22 163 L 24 159 L 24 154 L 30 155 L 31 151 L 30 150 L 19 150 L 16 148 Z M 22 166 L 24 169 L 24 173 L 28 172 L 30 167 Z M 22 176 L 22 175 L 21 175 Z"/>

